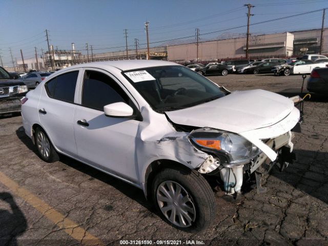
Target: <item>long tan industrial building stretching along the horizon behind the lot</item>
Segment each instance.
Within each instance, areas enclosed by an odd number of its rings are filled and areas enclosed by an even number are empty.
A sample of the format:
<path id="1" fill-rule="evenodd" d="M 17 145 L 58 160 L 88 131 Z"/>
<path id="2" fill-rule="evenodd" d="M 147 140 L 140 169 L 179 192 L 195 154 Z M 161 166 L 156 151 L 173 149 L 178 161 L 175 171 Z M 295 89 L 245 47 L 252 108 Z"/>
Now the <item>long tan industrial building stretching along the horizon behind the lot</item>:
<path id="1" fill-rule="evenodd" d="M 328 54 L 328 28 L 323 30 L 322 54 Z M 274 34 L 251 35 L 249 41 L 249 57 L 254 59 L 268 57 L 299 57 L 303 54 L 315 54 L 320 51 L 321 29 L 291 31 Z M 196 61 L 206 63 L 214 60 L 245 58 L 246 37 L 209 40 L 197 44 L 166 45 L 150 48 L 151 59 L 171 60 L 178 63 Z M 121 60 L 121 59 L 146 59 L 147 49 L 126 50 L 97 53 L 94 50 L 81 54 L 80 51 L 57 50 L 50 47 L 50 53 L 44 53 L 44 57 L 38 59 L 39 69 L 50 70 L 51 60 L 53 69 L 65 68 L 80 63 L 92 61 Z M 51 56 L 51 59 L 50 59 Z M 23 71 L 23 61 L 17 61 L 18 70 Z M 35 59 L 25 61 L 27 70 L 37 69 Z M 17 70 L 16 67 L 5 67 L 8 71 Z"/>

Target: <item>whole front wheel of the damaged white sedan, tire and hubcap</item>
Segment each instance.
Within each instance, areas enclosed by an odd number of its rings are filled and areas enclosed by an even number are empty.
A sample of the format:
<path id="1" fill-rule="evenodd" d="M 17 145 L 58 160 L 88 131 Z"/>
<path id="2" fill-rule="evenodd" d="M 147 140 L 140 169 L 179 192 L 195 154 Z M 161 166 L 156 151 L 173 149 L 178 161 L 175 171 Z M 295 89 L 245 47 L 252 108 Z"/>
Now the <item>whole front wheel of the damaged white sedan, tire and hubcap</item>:
<path id="1" fill-rule="evenodd" d="M 214 194 L 195 170 L 164 169 L 154 178 L 152 193 L 162 217 L 180 230 L 199 232 L 214 221 Z"/>

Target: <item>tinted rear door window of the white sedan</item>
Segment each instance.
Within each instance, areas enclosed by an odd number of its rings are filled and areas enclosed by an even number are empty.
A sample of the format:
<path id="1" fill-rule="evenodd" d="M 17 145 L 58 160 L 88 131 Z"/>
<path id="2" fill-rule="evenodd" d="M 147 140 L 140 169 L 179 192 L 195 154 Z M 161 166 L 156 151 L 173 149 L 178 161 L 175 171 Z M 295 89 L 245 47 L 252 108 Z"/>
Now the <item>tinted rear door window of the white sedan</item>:
<path id="1" fill-rule="evenodd" d="M 74 103 L 77 75 L 78 71 L 74 71 L 51 79 L 45 85 L 48 95 L 57 100 Z"/>

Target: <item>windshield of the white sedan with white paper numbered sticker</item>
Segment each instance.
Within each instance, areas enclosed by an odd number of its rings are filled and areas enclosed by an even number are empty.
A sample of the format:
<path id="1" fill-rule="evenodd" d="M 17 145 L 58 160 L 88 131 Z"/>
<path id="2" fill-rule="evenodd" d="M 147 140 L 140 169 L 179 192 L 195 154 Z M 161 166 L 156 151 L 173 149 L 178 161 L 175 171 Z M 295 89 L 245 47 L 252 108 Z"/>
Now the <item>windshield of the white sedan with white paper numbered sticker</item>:
<path id="1" fill-rule="evenodd" d="M 151 67 L 122 74 L 157 112 L 188 108 L 227 95 L 226 90 L 182 66 Z"/>

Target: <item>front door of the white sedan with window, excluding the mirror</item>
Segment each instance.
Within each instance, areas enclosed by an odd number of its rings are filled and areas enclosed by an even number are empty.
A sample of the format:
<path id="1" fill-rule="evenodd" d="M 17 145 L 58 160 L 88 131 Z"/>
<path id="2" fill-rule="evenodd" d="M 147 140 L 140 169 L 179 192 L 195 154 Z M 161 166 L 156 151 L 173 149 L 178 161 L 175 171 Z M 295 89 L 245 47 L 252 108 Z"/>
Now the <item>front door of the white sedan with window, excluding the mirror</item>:
<path id="1" fill-rule="evenodd" d="M 137 183 L 135 138 L 139 121 L 104 114 L 104 106 L 119 101 L 136 108 L 119 84 L 101 70 L 84 72 L 80 105 L 76 106 L 73 124 L 77 154 L 96 168 Z"/>

